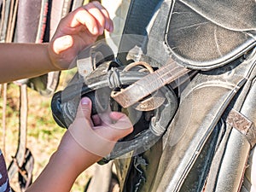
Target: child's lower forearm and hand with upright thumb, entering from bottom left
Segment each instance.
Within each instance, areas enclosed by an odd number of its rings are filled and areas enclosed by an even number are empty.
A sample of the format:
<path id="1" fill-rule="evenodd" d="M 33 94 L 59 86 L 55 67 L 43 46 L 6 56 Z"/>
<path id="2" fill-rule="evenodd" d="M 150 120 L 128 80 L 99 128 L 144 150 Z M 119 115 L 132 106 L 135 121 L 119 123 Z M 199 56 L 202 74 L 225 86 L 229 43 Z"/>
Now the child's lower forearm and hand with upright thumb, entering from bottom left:
<path id="1" fill-rule="evenodd" d="M 90 110 L 90 99 L 83 98 L 77 117 L 62 137 L 59 148 L 27 192 L 70 191 L 81 172 L 107 155 L 119 138 L 131 133 L 131 121 L 125 114 L 105 114 L 101 122 L 93 125 Z"/>

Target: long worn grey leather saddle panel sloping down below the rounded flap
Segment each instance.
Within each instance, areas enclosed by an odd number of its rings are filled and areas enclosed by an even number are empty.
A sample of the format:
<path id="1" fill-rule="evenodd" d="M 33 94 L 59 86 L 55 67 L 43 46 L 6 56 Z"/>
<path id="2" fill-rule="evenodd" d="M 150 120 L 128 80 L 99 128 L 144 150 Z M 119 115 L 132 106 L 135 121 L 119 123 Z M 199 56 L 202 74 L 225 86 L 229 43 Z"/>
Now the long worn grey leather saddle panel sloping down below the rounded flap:
<path id="1" fill-rule="evenodd" d="M 250 69 L 255 68 L 255 61 L 250 66 L 248 67 L 247 63 L 238 65 L 230 77 L 227 77 L 227 73 L 218 74 L 213 70 L 211 76 L 209 73 L 201 73 L 192 80 L 192 90 L 185 96 L 178 115 L 168 129 L 166 145 L 160 158 L 160 168 L 154 180 L 153 191 L 178 191 L 180 189 L 183 178 L 188 174 L 196 156 L 201 154 L 203 143 L 216 125 L 216 120 L 218 121 L 224 112 L 222 110 L 228 107 L 233 96 L 236 95 L 236 89 L 241 89 Z M 193 106 L 190 116 L 184 111 L 188 110 L 188 107 L 183 107 L 183 104 L 188 104 L 189 100 L 192 101 L 191 106 Z M 180 130 L 181 127 L 184 128 L 183 131 Z"/>

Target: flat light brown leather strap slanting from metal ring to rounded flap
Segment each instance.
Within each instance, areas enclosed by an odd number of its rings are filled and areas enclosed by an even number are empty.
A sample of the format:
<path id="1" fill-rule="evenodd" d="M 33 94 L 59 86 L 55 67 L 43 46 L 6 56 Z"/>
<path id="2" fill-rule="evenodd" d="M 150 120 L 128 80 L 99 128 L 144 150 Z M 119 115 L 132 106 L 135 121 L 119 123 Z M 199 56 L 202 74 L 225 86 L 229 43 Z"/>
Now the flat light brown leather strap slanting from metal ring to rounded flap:
<path id="1" fill-rule="evenodd" d="M 167 63 L 166 66 L 160 67 L 153 73 L 149 73 L 143 79 L 139 79 L 126 89 L 113 91 L 111 96 L 116 102 L 119 102 L 123 108 L 128 108 L 146 96 L 149 96 L 155 90 L 159 90 L 166 84 L 171 84 L 189 72 L 191 72 L 191 70 L 188 68 L 179 66 L 175 61 L 171 61 Z"/>

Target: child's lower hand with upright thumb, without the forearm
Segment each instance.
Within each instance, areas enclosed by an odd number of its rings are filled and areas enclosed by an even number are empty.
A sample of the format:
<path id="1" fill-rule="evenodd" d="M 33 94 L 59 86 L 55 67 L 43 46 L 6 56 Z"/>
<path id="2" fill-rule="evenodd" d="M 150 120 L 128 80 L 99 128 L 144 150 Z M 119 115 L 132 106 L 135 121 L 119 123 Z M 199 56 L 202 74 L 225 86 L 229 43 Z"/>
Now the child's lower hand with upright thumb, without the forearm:
<path id="1" fill-rule="evenodd" d="M 114 144 L 133 130 L 130 119 L 119 112 L 104 113 L 90 118 L 91 102 L 82 98 L 78 113 L 68 131 L 82 148 L 97 156 L 109 154 Z"/>

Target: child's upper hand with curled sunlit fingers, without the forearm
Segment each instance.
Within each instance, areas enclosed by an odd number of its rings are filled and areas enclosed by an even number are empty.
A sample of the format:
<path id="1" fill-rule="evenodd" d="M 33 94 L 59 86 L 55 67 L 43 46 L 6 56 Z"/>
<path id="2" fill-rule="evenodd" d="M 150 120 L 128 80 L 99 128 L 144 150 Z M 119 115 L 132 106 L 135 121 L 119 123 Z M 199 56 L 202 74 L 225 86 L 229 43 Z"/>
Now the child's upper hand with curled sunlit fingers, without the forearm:
<path id="1" fill-rule="evenodd" d="M 68 69 L 73 59 L 103 34 L 113 32 L 113 21 L 101 3 L 92 2 L 61 19 L 49 43 L 49 58 L 59 70 Z"/>

